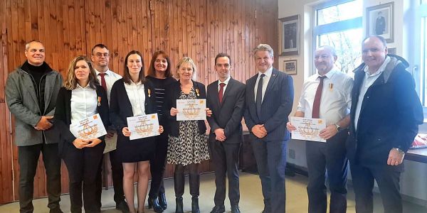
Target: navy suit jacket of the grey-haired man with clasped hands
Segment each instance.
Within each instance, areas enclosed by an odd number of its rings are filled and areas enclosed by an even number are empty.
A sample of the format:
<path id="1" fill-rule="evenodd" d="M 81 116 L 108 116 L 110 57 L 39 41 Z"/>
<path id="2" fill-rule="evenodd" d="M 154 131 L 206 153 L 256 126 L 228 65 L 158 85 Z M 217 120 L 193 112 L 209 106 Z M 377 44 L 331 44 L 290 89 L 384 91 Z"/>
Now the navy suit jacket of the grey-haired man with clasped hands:
<path id="1" fill-rule="evenodd" d="M 265 90 L 263 103 L 261 104 L 262 117 L 258 118 L 255 109 L 255 82 L 258 73 L 246 81 L 246 111 L 245 122 L 251 131 L 255 124 L 264 124 L 267 141 L 288 140 L 290 133 L 286 129 L 288 116 L 293 104 L 293 80 L 290 75 L 273 68 L 267 89 Z"/>

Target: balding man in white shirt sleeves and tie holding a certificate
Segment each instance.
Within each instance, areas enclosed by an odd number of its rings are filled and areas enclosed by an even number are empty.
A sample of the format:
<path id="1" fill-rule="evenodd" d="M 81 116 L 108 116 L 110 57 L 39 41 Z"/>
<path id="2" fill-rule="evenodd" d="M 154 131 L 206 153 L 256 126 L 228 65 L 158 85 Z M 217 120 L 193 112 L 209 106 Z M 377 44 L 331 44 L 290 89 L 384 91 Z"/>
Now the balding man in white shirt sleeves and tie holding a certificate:
<path id="1" fill-rule="evenodd" d="M 326 143 L 305 143 L 308 212 L 327 212 L 325 176 L 331 192 L 330 212 L 346 212 L 348 160 L 345 141 L 350 122 L 353 80 L 334 66 L 337 53 L 331 46 L 317 48 L 314 59 L 317 73 L 302 84 L 300 102 L 295 112 L 297 117 L 324 119 L 327 125 L 319 134 Z M 287 127 L 289 131 L 296 130 L 290 122 Z"/>

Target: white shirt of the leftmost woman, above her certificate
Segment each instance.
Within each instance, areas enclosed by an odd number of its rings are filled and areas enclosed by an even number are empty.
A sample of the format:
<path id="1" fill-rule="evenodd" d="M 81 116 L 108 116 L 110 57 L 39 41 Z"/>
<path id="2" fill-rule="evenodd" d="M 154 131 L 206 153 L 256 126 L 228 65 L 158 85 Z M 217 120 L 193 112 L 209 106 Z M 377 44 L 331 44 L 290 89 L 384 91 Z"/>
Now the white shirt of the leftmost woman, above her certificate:
<path id="1" fill-rule="evenodd" d="M 97 114 L 96 90 L 89 87 L 77 87 L 71 91 L 71 124 Z"/>

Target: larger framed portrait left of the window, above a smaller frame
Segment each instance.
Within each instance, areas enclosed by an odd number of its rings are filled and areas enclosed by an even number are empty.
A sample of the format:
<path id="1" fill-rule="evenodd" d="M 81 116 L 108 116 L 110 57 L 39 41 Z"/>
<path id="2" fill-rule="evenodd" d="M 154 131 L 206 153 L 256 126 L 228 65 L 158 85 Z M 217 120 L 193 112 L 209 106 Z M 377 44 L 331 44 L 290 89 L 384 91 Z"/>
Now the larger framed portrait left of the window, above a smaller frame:
<path id="1" fill-rule="evenodd" d="M 300 53 L 300 15 L 280 18 L 279 53 L 281 56 Z"/>

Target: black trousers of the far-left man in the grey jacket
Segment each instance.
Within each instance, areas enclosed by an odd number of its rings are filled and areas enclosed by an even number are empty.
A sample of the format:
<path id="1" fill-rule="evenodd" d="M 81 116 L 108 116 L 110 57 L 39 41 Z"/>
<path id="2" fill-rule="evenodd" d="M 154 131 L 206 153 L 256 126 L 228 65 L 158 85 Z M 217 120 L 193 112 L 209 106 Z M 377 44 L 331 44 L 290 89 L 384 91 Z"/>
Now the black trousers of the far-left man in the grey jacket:
<path id="1" fill-rule="evenodd" d="M 20 212 L 33 212 L 34 176 L 36 175 L 40 153 L 43 153 L 43 163 L 46 169 L 48 208 L 59 207 L 60 158 L 58 156 L 58 143 L 18 146 Z"/>

